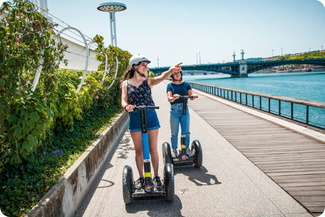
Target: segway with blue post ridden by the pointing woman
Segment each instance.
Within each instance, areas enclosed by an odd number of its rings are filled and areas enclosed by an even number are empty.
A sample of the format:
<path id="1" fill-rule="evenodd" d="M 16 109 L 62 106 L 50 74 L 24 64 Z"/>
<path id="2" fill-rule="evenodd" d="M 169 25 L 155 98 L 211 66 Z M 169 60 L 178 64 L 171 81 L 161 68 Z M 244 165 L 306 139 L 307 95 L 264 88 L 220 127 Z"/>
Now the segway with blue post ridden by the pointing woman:
<path id="1" fill-rule="evenodd" d="M 134 108 L 134 110 L 140 110 L 141 117 L 141 137 L 145 187 L 142 189 L 137 189 L 135 187 L 132 168 L 129 165 L 125 165 L 123 169 L 123 199 L 125 204 L 131 204 L 135 198 L 139 197 L 163 197 L 167 201 L 174 200 L 174 170 L 171 163 L 166 163 L 164 166 L 163 185 L 161 187 L 153 185 L 150 166 L 149 135 L 147 130 L 146 109 L 159 109 L 159 107 L 137 106 Z"/>

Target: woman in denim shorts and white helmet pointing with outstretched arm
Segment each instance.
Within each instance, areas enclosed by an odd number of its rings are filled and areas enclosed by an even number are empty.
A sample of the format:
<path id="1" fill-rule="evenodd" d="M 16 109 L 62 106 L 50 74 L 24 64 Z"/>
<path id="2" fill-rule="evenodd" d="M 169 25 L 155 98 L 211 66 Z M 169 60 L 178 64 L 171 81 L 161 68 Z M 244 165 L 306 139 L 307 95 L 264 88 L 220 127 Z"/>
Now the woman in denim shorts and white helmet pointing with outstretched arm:
<path id="1" fill-rule="evenodd" d="M 123 75 L 121 105 L 129 112 L 129 131 L 134 143 L 135 160 L 140 178 L 135 182 L 135 187 L 141 189 L 145 184 L 150 186 L 162 186 L 160 176 L 158 175 L 158 151 L 157 139 L 158 129 L 160 128 L 159 120 L 154 109 L 146 110 L 148 139 L 150 143 L 151 162 L 154 171 L 153 183 L 145 183 L 143 148 L 141 136 L 141 121 L 139 110 L 134 110 L 137 106 L 154 106 L 151 95 L 151 87 L 167 79 L 174 72 L 180 71 L 179 63 L 171 67 L 168 71 L 153 78 L 147 78 L 148 64 L 151 61 L 143 55 L 134 55 L 129 61 L 130 69 Z M 150 174 L 151 175 L 151 174 Z"/>

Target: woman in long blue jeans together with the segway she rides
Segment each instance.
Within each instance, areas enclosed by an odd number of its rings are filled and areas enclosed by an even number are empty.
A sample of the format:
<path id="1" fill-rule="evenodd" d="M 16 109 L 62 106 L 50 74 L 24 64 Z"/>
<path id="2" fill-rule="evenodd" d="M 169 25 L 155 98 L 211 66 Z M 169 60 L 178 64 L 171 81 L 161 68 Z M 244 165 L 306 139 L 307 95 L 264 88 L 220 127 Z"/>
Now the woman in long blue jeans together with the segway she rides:
<path id="1" fill-rule="evenodd" d="M 188 111 L 188 99 L 198 98 L 193 94 L 191 85 L 183 81 L 182 71 L 171 75 L 172 82 L 167 85 L 167 99 L 171 104 L 170 128 L 172 150 L 168 143 L 163 144 L 163 156 L 165 163 L 174 165 L 194 164 L 196 168 L 202 165 L 202 149 L 198 140 L 190 144 L 190 114 Z M 178 131 L 181 128 L 181 149 L 178 150 Z M 194 151 L 194 153 L 193 153 Z"/>

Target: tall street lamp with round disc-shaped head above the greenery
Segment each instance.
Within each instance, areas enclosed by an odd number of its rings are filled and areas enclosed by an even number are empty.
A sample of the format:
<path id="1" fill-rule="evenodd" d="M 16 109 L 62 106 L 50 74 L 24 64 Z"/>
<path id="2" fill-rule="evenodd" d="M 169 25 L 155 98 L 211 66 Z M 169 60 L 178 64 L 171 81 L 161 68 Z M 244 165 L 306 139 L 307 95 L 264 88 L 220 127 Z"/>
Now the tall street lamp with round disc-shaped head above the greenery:
<path id="1" fill-rule="evenodd" d="M 101 3 L 97 9 L 103 12 L 109 12 L 110 15 L 110 27 L 111 27 L 111 45 L 117 47 L 116 43 L 116 24 L 115 24 L 115 13 L 124 11 L 126 5 L 119 2 L 105 2 Z"/>

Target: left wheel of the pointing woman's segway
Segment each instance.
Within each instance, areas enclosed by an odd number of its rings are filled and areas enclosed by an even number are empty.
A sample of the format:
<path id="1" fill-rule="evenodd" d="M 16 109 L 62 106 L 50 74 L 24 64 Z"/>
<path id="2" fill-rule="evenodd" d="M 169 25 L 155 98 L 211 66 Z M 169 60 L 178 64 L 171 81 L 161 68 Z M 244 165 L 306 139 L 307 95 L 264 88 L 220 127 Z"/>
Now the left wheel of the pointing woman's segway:
<path id="1" fill-rule="evenodd" d="M 133 189 L 133 172 L 132 168 L 128 165 L 123 169 L 123 199 L 125 204 L 133 202 L 132 189 Z"/>

